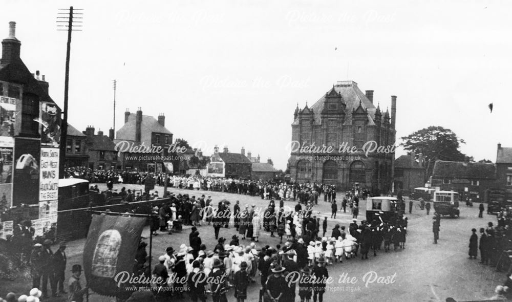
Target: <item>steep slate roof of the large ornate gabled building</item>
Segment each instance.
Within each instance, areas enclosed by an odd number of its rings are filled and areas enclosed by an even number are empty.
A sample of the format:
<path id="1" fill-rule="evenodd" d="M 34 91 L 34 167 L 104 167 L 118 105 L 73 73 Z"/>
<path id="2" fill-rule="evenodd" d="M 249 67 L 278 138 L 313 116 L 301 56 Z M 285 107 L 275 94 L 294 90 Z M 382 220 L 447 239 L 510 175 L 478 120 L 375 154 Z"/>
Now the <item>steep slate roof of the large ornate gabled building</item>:
<path id="1" fill-rule="evenodd" d="M 329 91 L 331 91 L 330 89 Z M 345 109 L 345 124 L 352 123 L 352 110 L 356 110 L 359 107 L 359 103 L 361 104 L 362 109 L 368 109 L 368 125 L 375 125 L 374 117 L 376 107 L 375 105 L 366 97 L 365 93 L 363 93 L 357 87 L 357 83 L 354 81 L 338 81 L 336 85 L 334 85 L 334 90 L 342 95 L 342 99 L 347 105 Z M 303 109 L 304 112 L 308 112 L 308 110 L 313 111 L 314 115 L 314 123 L 319 125 L 321 124 L 322 118 L 321 113 L 324 109 L 325 104 L 325 94 L 314 103 L 311 107 L 306 107 Z M 384 113 L 381 112 L 382 116 Z M 292 125 L 298 125 L 298 118 L 295 119 Z"/>

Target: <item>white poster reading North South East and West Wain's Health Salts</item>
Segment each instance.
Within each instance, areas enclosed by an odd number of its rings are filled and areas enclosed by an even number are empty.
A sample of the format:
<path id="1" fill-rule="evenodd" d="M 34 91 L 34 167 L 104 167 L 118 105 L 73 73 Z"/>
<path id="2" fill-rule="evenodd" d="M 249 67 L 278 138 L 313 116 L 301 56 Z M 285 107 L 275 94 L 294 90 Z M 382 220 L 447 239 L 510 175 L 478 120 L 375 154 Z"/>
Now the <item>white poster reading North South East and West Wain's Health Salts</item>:
<path id="1" fill-rule="evenodd" d="M 58 199 L 59 151 L 57 148 L 41 148 L 39 201 Z"/>

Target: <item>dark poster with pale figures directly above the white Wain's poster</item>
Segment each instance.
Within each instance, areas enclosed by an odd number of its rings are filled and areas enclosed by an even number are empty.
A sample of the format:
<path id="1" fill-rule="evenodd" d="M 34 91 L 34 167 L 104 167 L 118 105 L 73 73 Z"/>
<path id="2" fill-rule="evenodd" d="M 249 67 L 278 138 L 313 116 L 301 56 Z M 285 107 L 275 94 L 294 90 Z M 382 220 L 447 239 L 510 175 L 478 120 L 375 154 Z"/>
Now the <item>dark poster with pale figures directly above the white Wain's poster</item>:
<path id="1" fill-rule="evenodd" d="M 34 119 L 41 124 L 41 146 L 58 147 L 60 144 L 60 109 L 54 103 L 41 102 L 40 117 Z"/>

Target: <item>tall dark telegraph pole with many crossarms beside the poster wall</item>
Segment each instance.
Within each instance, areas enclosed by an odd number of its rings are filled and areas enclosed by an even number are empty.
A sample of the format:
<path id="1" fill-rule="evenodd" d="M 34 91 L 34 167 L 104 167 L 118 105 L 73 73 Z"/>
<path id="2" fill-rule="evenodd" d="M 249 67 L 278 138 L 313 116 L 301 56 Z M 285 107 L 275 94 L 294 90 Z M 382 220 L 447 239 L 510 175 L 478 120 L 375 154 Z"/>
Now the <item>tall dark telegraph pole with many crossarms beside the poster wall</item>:
<path id="1" fill-rule="evenodd" d="M 82 9 L 75 9 L 76 11 L 82 11 Z M 64 111 L 62 115 L 62 124 L 61 124 L 61 133 L 60 133 L 60 155 L 59 155 L 59 178 L 65 178 L 65 163 L 66 163 L 66 146 L 68 145 L 68 90 L 69 90 L 69 58 L 71 51 L 71 32 L 72 31 L 81 31 L 81 25 L 74 25 L 73 18 L 80 19 L 78 21 L 74 21 L 75 23 L 82 23 L 81 16 L 74 15 L 83 15 L 80 12 L 73 12 L 73 7 L 70 6 L 69 9 L 59 9 L 57 13 L 57 30 L 67 30 L 68 31 L 68 45 L 66 50 L 66 72 L 64 78 Z M 68 16 L 61 16 L 68 15 Z M 62 23 L 62 25 L 60 24 Z M 63 29 L 60 29 L 63 27 Z M 73 29 L 73 27 L 77 27 Z"/>

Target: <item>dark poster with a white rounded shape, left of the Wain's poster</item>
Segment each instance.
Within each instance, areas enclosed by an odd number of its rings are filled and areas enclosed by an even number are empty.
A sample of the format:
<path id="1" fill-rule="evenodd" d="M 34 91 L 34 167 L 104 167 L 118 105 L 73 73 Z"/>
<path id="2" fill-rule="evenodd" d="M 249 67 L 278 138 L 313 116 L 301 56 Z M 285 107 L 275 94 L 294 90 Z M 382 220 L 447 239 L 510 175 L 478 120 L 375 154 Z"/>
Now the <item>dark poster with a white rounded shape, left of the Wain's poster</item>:
<path id="1" fill-rule="evenodd" d="M 39 140 L 15 139 L 12 205 L 39 202 Z"/>

